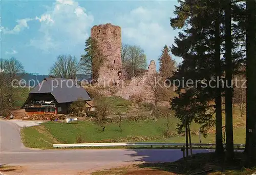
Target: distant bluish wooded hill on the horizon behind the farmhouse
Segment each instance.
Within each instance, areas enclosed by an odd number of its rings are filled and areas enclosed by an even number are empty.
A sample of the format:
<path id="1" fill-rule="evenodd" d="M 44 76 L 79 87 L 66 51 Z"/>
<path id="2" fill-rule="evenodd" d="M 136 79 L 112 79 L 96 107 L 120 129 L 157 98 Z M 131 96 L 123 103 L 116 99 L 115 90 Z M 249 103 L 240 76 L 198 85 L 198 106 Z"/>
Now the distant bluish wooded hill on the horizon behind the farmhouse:
<path id="1" fill-rule="evenodd" d="M 49 77 L 49 75 L 35 75 L 35 74 L 31 74 L 31 73 L 25 73 L 20 77 L 20 79 L 26 81 L 26 86 L 34 86 L 34 81 L 36 82 L 35 85 L 37 85 L 42 80 L 44 80 L 44 78 L 47 78 L 47 77 Z M 90 81 L 91 80 L 90 75 L 77 74 L 76 77 L 77 77 L 78 81 L 81 81 L 81 80 Z M 30 84 L 29 84 L 29 82 L 30 82 Z"/>

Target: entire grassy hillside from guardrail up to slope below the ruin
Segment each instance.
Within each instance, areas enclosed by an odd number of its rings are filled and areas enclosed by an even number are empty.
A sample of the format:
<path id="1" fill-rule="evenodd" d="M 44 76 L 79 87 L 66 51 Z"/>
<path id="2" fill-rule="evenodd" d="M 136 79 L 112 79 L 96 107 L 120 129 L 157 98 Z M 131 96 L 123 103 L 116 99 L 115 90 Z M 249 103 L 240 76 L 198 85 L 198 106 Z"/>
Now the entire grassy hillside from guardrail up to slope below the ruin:
<path id="1" fill-rule="evenodd" d="M 40 126 L 22 129 L 24 144 L 28 147 L 50 148 L 52 143 L 91 143 L 91 142 L 169 142 L 185 143 L 185 137 L 177 134 L 176 127 L 179 120 L 171 119 L 170 127 L 172 137 L 165 137 L 166 119 L 164 117 L 148 117 L 148 108 L 138 106 L 129 100 L 120 97 L 104 97 L 109 101 L 111 115 L 115 117 L 118 112 L 125 112 L 122 120 L 114 120 L 106 124 L 105 131 L 94 121 L 79 121 L 78 123 L 42 123 Z M 136 120 L 132 115 L 145 116 Z M 147 114 L 146 114 L 147 112 Z M 147 118 L 148 117 L 148 118 Z M 225 114 L 223 114 L 223 126 Z M 199 143 L 200 125 L 191 124 L 191 139 Z M 245 143 L 245 117 L 235 113 L 233 118 L 234 143 Z M 215 143 L 215 128 L 209 130 L 208 137 L 202 138 L 202 143 Z"/>

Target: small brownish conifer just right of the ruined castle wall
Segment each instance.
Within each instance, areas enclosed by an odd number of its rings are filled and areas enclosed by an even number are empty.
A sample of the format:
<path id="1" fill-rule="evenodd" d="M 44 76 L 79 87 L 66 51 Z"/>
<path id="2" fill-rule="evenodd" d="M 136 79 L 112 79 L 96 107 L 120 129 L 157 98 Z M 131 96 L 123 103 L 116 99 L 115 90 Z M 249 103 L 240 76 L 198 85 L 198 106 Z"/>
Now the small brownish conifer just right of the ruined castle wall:
<path id="1" fill-rule="evenodd" d="M 173 71 L 175 71 L 175 60 L 173 60 L 170 57 L 169 54 L 169 48 L 165 45 L 163 50 L 162 50 L 162 55 L 158 59 L 159 60 L 159 73 L 162 77 L 169 78 L 173 76 Z"/>

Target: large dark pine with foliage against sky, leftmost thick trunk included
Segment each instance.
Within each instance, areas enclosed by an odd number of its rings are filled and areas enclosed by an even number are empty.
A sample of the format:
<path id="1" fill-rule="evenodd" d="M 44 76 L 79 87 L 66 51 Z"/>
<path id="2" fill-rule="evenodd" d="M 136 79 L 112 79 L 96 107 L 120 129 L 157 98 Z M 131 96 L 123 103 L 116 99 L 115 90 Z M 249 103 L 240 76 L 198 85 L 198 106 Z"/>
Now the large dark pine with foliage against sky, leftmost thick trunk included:
<path id="1" fill-rule="evenodd" d="M 171 19 L 171 25 L 174 29 L 183 28 L 184 33 L 179 34 L 179 38 L 175 38 L 176 45 L 172 49 L 172 53 L 176 56 L 184 59 L 184 70 L 179 70 L 181 76 L 185 79 L 199 79 L 209 80 L 215 79 L 216 83 L 218 79 L 221 80 L 223 75 L 223 61 L 221 59 L 221 52 L 223 51 L 223 28 L 222 23 L 222 11 L 220 7 L 220 1 L 179 1 L 180 6 L 176 7 L 176 18 Z M 216 4 L 217 3 L 217 4 Z M 186 80 L 185 80 L 186 81 Z M 195 82 L 195 81 L 194 81 Z M 221 158 L 223 157 L 223 139 L 222 139 L 222 92 L 223 89 L 220 86 L 216 88 L 195 88 L 195 94 L 191 98 L 199 98 L 201 102 L 215 101 L 215 113 L 216 113 L 216 153 Z M 195 103 L 195 102 L 193 102 Z M 191 105 L 193 104 L 191 103 Z M 201 103 L 195 103 L 198 108 L 212 108 L 211 105 L 200 105 Z M 182 107 L 182 103 L 180 103 Z M 200 110 L 201 111 L 201 110 Z M 197 111 L 199 113 L 199 111 Z M 197 119 L 197 122 L 204 121 L 203 125 L 207 126 L 207 118 L 209 116 L 207 111 L 199 113 L 201 119 Z M 195 114 L 196 115 L 196 114 Z M 209 122 L 210 123 L 210 122 Z M 207 127 L 206 127 L 207 128 Z"/>

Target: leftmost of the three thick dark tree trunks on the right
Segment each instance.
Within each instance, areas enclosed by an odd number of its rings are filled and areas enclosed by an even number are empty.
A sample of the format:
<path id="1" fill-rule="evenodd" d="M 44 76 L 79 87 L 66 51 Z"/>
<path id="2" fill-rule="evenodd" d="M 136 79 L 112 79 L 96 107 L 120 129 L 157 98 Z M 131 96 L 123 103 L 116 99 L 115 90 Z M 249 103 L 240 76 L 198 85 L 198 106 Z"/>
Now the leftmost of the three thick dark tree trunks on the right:
<path id="1" fill-rule="evenodd" d="M 219 13 L 219 12 L 218 12 Z M 215 73 L 216 73 L 216 84 L 218 77 L 221 77 L 221 59 L 220 59 L 220 21 L 217 15 L 215 21 Z M 216 85 L 216 96 L 215 96 L 215 105 L 216 105 L 216 147 L 215 152 L 218 157 L 223 156 L 223 140 L 222 140 L 222 105 L 221 105 L 221 89 Z"/>

